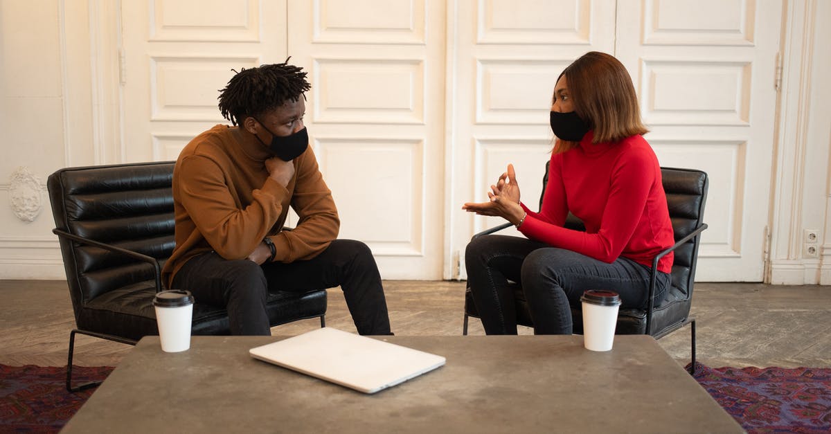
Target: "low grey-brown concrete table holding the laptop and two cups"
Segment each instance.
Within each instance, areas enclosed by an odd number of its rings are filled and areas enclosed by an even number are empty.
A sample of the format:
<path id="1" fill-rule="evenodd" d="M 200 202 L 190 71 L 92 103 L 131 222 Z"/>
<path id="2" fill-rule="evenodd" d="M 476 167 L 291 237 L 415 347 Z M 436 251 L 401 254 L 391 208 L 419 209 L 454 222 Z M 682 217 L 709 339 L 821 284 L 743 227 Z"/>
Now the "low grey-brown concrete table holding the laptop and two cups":
<path id="1" fill-rule="evenodd" d="M 394 336 L 447 364 L 365 395 L 260 362 L 284 337 L 145 337 L 64 432 L 743 432 L 650 336 Z"/>

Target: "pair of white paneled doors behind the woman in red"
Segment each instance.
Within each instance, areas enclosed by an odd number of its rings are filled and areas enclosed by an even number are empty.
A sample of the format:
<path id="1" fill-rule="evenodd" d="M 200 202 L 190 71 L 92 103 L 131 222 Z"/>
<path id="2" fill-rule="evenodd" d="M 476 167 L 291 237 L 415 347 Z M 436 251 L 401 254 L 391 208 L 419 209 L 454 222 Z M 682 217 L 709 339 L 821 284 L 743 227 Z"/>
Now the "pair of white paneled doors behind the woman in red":
<path id="1" fill-rule="evenodd" d="M 456 2 L 453 189 L 448 277 L 465 245 L 504 220 L 465 215 L 508 162 L 536 208 L 551 149 L 554 81 L 584 52 L 632 75 L 661 165 L 706 170 L 710 225 L 696 279 L 761 281 L 770 204 L 781 2 L 772 0 L 479 0 Z M 522 7 L 519 7 L 522 6 Z M 534 205 L 532 205 L 534 204 Z M 504 231 L 517 234 L 514 229 Z M 519 235 L 521 236 L 521 235 Z"/>

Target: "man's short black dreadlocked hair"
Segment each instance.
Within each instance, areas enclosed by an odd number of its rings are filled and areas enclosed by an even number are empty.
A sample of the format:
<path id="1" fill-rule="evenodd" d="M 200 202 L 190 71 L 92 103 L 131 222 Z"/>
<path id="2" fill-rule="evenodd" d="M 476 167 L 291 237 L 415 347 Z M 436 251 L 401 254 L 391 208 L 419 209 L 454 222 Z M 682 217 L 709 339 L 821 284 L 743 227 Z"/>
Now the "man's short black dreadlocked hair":
<path id="1" fill-rule="evenodd" d="M 286 101 L 305 98 L 303 93 L 312 86 L 302 69 L 289 65 L 288 59 L 283 63 L 241 69 L 219 91 L 219 111 L 236 126 L 246 116 L 260 116 L 283 106 Z"/>

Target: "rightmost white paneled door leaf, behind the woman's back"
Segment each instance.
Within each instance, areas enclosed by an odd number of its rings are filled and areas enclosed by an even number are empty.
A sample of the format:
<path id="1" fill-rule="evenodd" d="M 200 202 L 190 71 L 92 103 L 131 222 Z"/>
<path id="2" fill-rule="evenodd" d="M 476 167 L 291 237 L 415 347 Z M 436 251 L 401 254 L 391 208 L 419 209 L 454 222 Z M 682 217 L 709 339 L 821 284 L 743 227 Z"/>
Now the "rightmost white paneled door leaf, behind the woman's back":
<path id="1" fill-rule="evenodd" d="M 696 278 L 761 282 L 774 150 L 778 0 L 617 7 L 615 55 L 661 165 L 710 176 Z"/>

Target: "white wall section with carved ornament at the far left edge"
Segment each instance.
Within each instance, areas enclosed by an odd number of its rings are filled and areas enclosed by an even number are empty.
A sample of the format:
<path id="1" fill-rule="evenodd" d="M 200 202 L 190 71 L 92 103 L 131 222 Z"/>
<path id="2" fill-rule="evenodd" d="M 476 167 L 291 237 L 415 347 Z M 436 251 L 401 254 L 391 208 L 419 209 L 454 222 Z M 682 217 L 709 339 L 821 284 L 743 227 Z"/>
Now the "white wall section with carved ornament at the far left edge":
<path id="1" fill-rule="evenodd" d="M 66 149 L 61 3 L 0 1 L 2 279 L 64 277 L 46 195 Z"/>

